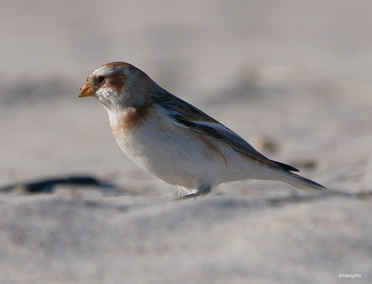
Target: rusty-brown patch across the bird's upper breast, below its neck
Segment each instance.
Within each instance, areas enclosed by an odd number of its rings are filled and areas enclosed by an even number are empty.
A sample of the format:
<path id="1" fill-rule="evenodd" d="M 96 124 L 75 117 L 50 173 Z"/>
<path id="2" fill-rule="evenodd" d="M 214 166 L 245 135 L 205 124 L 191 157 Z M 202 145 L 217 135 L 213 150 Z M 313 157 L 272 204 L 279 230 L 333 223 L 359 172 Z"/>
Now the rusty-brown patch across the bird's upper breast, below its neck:
<path id="1" fill-rule="evenodd" d="M 111 125 L 111 131 L 116 138 L 120 131 L 132 130 L 134 127 L 144 123 L 150 112 L 151 105 L 145 105 L 138 108 L 128 108 L 125 114 L 122 114 L 116 123 Z"/>

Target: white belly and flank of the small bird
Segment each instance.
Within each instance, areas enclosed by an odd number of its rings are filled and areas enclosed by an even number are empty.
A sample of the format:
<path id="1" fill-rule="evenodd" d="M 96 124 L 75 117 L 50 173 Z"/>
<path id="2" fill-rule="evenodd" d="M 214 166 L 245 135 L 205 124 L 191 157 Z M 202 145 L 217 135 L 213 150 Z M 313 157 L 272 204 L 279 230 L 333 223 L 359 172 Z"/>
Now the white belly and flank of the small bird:
<path id="1" fill-rule="evenodd" d="M 116 116 L 110 115 L 112 129 L 116 121 Z M 214 187 L 257 178 L 259 165 L 249 158 L 161 115 L 151 115 L 146 123 L 113 133 L 122 151 L 141 169 L 171 185 L 196 189 L 201 184 Z"/>

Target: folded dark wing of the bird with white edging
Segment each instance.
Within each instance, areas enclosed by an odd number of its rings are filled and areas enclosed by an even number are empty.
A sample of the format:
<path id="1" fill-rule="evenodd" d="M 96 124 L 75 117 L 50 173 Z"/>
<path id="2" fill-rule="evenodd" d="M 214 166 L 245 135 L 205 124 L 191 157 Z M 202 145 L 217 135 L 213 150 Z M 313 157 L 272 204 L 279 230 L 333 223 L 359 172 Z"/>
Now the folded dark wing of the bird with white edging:
<path id="1" fill-rule="evenodd" d="M 171 95 L 171 94 L 169 94 Z M 182 99 L 171 95 L 169 101 L 156 102 L 162 109 L 163 113 L 170 118 L 170 121 L 181 127 L 187 127 L 205 136 L 211 137 L 225 145 L 228 145 L 244 154 L 261 160 L 281 169 L 299 172 L 295 167 L 287 164 L 270 160 L 254 149 L 246 140 L 238 136 L 217 120 L 211 118 L 193 105 L 188 104 Z"/>

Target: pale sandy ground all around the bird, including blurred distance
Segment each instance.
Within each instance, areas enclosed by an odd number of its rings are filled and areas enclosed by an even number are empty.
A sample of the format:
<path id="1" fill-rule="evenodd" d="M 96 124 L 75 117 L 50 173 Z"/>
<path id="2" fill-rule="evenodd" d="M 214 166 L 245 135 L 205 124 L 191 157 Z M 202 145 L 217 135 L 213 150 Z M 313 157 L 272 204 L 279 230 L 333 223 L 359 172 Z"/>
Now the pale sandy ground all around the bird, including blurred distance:
<path id="1" fill-rule="evenodd" d="M 0 193 L 0 283 L 371 283 L 371 14 L 358 0 L 3 3 L 0 186 L 17 186 Z M 111 61 L 349 194 L 250 180 L 172 200 L 76 98 Z M 115 188 L 22 187 L 81 175 Z"/>

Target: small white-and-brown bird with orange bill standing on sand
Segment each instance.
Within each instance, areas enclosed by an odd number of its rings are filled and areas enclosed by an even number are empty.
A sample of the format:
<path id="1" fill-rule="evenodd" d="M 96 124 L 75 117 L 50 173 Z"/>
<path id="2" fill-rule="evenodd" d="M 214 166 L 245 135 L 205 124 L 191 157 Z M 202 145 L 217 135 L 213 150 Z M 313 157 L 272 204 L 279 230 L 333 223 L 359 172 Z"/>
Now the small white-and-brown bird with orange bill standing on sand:
<path id="1" fill-rule="evenodd" d="M 108 112 L 121 150 L 141 169 L 176 186 L 179 198 L 205 195 L 221 183 L 276 180 L 303 190 L 327 188 L 270 160 L 225 125 L 156 84 L 126 62 L 95 69 L 78 97 Z"/>

